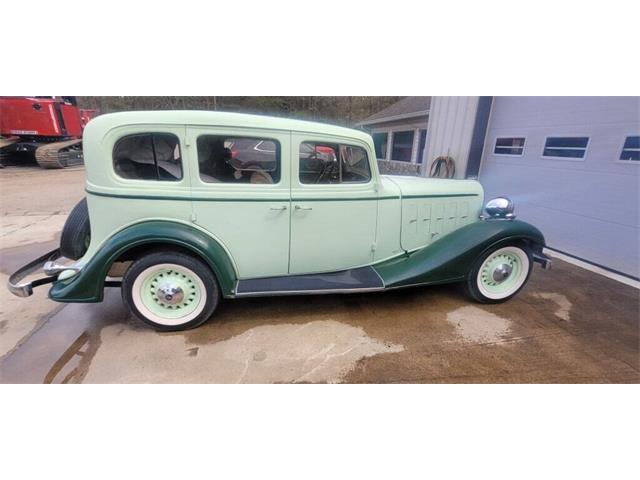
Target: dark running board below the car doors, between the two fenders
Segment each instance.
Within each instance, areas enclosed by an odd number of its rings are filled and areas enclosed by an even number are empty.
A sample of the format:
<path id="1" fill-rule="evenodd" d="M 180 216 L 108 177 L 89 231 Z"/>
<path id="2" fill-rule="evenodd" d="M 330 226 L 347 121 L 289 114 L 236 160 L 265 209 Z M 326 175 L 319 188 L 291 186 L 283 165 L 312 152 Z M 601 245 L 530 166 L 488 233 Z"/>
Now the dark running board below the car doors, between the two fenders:
<path id="1" fill-rule="evenodd" d="M 372 267 L 341 272 L 289 275 L 238 280 L 236 297 L 356 293 L 384 290 L 384 282 Z"/>

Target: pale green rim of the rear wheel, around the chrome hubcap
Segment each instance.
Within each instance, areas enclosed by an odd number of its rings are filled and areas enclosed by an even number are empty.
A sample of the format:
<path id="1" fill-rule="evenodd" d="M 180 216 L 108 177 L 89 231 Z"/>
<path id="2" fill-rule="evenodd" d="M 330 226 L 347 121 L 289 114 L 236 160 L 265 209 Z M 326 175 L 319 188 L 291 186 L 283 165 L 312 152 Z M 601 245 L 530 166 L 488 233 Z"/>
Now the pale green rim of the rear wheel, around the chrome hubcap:
<path id="1" fill-rule="evenodd" d="M 192 314 L 202 300 L 200 282 L 193 272 L 179 265 L 160 268 L 149 272 L 142 281 L 140 299 L 154 315 L 166 319 L 179 319 Z M 171 286 L 179 289 L 181 298 L 174 296 L 168 301 L 159 289 Z"/>

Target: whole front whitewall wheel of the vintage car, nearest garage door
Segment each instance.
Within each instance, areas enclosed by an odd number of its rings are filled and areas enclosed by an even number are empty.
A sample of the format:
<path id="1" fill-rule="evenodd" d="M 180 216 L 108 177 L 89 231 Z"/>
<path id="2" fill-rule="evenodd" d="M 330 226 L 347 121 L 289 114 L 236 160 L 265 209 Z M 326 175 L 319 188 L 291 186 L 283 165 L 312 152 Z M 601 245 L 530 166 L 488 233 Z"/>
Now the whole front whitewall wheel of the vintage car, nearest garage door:
<path id="1" fill-rule="evenodd" d="M 467 293 L 480 303 L 504 302 L 527 283 L 533 265 L 526 247 L 508 245 L 485 254 L 467 278 Z"/>

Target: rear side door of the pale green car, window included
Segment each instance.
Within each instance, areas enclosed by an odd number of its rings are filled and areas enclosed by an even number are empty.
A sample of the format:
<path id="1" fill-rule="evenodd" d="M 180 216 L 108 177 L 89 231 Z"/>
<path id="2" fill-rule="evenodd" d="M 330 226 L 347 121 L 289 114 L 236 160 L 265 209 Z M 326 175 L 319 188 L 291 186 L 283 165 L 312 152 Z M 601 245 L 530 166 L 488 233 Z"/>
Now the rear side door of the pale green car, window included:
<path id="1" fill-rule="evenodd" d="M 289 267 L 290 134 L 187 128 L 194 222 L 230 253 L 240 279 Z"/>

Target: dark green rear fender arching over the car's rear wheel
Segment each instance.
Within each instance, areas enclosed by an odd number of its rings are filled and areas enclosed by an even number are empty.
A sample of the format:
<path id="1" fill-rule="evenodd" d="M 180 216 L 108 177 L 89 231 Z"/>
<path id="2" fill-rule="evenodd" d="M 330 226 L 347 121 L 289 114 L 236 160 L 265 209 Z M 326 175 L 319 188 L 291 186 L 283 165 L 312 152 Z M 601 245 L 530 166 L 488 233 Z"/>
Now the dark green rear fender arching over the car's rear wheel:
<path id="1" fill-rule="evenodd" d="M 189 225 L 149 221 L 125 228 L 109 238 L 80 273 L 54 282 L 49 297 L 57 302 L 101 302 L 105 278 L 113 262 L 127 250 L 145 244 L 176 245 L 192 251 L 214 271 L 222 294 L 232 294 L 236 282 L 235 269 L 218 242 Z"/>

